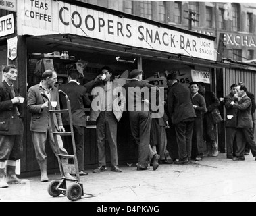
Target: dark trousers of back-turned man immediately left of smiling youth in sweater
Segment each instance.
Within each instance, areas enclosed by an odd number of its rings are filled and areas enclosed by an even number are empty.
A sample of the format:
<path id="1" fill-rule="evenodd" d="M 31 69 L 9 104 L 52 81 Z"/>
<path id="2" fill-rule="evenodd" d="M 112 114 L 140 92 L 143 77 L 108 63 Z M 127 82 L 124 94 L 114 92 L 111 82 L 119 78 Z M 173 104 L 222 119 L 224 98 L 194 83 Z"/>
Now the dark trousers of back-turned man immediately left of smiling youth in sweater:
<path id="1" fill-rule="evenodd" d="M 185 119 L 175 125 L 180 161 L 191 159 L 191 142 L 194 118 Z"/>

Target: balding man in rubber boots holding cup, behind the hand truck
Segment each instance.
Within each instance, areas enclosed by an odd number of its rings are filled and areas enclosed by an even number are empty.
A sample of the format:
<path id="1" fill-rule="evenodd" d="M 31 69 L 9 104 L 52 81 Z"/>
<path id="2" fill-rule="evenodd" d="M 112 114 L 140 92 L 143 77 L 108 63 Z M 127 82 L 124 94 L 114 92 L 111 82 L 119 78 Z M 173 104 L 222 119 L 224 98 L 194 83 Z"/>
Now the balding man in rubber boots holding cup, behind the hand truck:
<path id="1" fill-rule="evenodd" d="M 45 144 L 47 139 L 53 150 L 53 153 L 68 155 L 68 152 L 63 148 L 63 142 L 61 136 L 57 135 L 58 146 L 54 142 L 53 133 L 49 128 L 49 107 L 48 101 L 41 93 L 47 95 L 50 101 L 57 101 L 55 109 L 59 109 L 59 92 L 54 86 L 57 82 L 57 72 L 54 70 L 46 70 L 42 75 L 43 80 L 29 88 L 28 90 L 28 104 L 27 108 L 32 113 L 30 131 L 32 134 L 32 142 L 34 144 L 34 150 L 36 152 L 36 159 L 39 163 L 41 171 L 41 182 L 48 182 L 47 176 L 47 154 L 45 152 Z M 65 132 L 65 128 L 62 124 L 61 113 L 53 114 L 55 128 L 59 132 Z M 59 152 L 58 152 L 59 148 Z M 66 159 L 65 163 L 68 163 Z M 69 173 L 65 173 L 66 177 L 72 178 Z"/>

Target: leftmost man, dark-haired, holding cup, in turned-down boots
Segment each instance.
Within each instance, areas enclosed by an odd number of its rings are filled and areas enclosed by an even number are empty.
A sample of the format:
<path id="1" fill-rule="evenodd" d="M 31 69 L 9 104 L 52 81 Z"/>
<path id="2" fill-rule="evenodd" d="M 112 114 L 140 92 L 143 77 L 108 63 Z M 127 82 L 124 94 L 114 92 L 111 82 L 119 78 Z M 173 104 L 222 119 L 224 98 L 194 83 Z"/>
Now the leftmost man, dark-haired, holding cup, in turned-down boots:
<path id="1" fill-rule="evenodd" d="M 3 69 L 5 80 L 0 84 L 0 188 L 8 184 L 21 184 L 16 177 L 16 160 L 22 157 L 22 110 L 18 89 L 14 88 L 18 72 L 15 65 Z M 6 177 L 5 180 L 5 161 Z"/>

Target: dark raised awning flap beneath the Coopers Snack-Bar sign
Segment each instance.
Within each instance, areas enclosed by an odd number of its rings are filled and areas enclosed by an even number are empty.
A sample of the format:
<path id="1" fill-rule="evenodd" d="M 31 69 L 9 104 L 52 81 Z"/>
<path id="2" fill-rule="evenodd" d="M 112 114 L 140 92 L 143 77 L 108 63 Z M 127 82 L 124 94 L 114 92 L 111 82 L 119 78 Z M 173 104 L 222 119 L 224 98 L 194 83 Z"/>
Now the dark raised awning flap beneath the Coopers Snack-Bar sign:
<path id="1" fill-rule="evenodd" d="M 101 55 L 116 55 L 120 58 L 134 59 L 134 57 L 142 57 L 143 59 L 159 59 L 159 62 L 178 62 L 186 65 L 198 65 L 207 68 L 248 68 L 249 65 L 222 63 L 217 61 L 210 61 L 207 59 L 199 59 L 193 56 L 185 56 L 182 54 L 174 54 L 172 50 L 170 53 L 155 51 L 152 49 L 143 49 L 138 47 L 130 47 L 120 45 L 117 43 L 109 43 L 107 41 L 100 41 L 93 38 L 78 36 L 73 34 L 53 34 L 45 36 L 32 36 L 31 38 L 36 45 L 40 43 L 47 47 L 67 47 L 67 49 L 74 49 L 75 51 L 86 53 L 100 53 Z M 40 40 L 39 40 L 40 39 Z"/>

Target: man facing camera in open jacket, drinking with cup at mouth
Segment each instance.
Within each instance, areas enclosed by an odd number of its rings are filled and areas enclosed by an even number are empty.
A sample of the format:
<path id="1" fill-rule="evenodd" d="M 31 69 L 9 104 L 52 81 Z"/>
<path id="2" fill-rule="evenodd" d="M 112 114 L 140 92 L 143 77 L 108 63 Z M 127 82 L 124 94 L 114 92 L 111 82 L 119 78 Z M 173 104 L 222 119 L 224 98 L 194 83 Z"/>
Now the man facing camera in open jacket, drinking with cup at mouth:
<path id="1" fill-rule="evenodd" d="M 93 170 L 94 173 L 101 173 L 107 170 L 106 167 L 106 142 L 107 138 L 110 155 L 111 171 L 122 172 L 118 167 L 118 146 L 117 127 L 124 110 L 124 95 L 122 88 L 111 81 L 113 71 L 105 66 L 101 68 L 95 80 L 84 86 L 92 94 L 90 121 L 96 121 L 97 146 L 99 167 Z M 99 104 L 99 106 L 98 106 Z"/>

